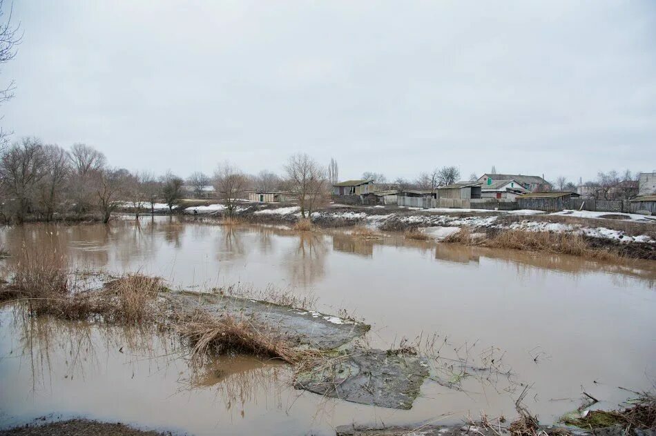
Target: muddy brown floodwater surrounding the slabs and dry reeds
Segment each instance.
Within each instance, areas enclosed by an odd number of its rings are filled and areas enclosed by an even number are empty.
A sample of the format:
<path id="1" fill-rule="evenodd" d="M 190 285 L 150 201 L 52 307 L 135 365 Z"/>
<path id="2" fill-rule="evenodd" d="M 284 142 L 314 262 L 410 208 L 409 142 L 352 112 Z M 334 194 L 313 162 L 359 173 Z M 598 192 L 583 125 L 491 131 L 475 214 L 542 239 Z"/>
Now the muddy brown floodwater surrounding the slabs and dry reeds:
<path id="1" fill-rule="evenodd" d="M 619 386 L 653 388 L 655 262 L 604 264 L 402 235 L 360 240 L 347 231 L 144 217 L 6 227 L 0 241 L 9 252 L 23 244 L 59 250 L 77 265 L 140 270 L 191 290 L 289 288 L 317 297 L 323 313 L 346 309 L 365 319 L 372 346 L 435 333 L 445 359 L 494 359 L 511 375 L 463 377 L 445 368 L 441 383 L 425 381 L 411 410 L 390 410 L 295 390 L 290 368 L 273 361 L 221 357 L 194 371 L 177 338 L 164 333 L 31 318 L 4 306 L 0 427 L 54 413 L 196 435 L 330 435 L 352 422 L 513 417 L 522 384 L 532 385 L 527 406 L 548 423 L 576 408 L 583 390 L 608 408 L 631 396 Z"/>

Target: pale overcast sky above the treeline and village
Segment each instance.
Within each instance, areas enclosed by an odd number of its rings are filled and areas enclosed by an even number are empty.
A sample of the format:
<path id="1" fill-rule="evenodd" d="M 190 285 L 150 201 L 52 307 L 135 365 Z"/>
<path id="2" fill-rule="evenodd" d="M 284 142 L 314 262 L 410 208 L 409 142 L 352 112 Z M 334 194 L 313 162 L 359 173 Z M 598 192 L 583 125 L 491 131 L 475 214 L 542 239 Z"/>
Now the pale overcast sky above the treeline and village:
<path id="1" fill-rule="evenodd" d="M 656 169 L 653 0 L 15 0 L 14 17 L 3 127 L 131 170 L 282 172 L 295 152 L 340 179 Z"/>

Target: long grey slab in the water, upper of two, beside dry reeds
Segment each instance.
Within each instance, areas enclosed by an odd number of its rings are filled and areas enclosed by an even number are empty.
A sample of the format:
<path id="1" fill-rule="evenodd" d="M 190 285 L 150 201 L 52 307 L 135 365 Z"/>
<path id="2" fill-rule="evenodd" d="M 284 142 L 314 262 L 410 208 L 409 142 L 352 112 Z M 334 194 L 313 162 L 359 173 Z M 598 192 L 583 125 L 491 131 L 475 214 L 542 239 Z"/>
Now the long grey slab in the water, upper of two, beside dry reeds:
<path id="1" fill-rule="evenodd" d="M 332 315 L 280 306 L 267 301 L 227 297 L 220 294 L 168 293 L 164 295 L 184 310 L 202 308 L 207 313 L 255 317 L 258 321 L 279 328 L 282 335 L 299 346 L 318 350 L 338 348 L 361 337 L 370 326 Z"/>

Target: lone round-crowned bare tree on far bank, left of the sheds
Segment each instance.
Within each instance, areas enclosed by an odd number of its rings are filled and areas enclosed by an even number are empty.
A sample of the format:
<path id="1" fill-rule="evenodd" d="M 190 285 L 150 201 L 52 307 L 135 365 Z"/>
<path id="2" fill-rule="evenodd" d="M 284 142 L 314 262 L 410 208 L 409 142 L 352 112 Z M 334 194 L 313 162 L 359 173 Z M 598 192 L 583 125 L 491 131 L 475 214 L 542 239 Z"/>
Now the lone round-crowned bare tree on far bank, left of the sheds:
<path id="1" fill-rule="evenodd" d="M 284 170 L 298 196 L 301 217 L 310 217 L 327 197 L 327 171 L 305 153 L 290 157 Z"/>

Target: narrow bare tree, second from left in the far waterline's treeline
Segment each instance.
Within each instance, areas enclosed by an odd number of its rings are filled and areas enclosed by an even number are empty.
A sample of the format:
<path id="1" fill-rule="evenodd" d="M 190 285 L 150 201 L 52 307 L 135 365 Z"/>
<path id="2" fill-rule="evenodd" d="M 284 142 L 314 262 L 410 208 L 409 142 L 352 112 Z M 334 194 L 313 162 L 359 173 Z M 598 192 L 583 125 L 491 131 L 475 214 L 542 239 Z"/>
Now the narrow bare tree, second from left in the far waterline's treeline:
<path id="1" fill-rule="evenodd" d="M 51 221 L 64 199 L 71 168 L 68 152 L 64 148 L 44 146 L 44 155 L 46 164 L 44 177 L 39 183 L 39 206 L 46 221 Z"/>

